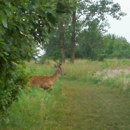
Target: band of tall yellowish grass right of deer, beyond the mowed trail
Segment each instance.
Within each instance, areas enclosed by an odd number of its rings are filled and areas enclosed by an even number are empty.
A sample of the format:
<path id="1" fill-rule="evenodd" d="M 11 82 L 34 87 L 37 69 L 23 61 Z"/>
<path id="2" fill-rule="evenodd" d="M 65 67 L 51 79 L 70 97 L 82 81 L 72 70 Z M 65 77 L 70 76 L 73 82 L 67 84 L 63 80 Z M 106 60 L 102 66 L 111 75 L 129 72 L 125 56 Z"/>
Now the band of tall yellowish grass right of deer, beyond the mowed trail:
<path id="1" fill-rule="evenodd" d="M 91 60 L 76 60 L 75 64 L 66 63 L 64 69 L 67 73 L 65 79 L 78 80 L 90 84 L 100 84 L 115 89 L 129 88 L 130 61 L 128 59 L 106 59 L 103 62 Z M 110 77 L 108 71 L 120 71 Z M 126 73 L 127 71 L 127 73 Z M 111 73 L 112 74 L 112 73 Z"/>

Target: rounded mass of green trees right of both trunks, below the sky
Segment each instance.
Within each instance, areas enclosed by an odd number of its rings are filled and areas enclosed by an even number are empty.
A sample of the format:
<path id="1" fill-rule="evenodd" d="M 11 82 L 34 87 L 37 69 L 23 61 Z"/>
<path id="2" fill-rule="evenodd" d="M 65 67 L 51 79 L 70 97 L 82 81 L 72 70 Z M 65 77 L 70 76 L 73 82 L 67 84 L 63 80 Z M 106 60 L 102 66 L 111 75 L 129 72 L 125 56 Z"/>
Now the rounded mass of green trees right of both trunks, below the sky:
<path id="1" fill-rule="evenodd" d="M 123 37 L 103 36 L 98 29 L 84 30 L 78 37 L 81 58 L 102 61 L 105 58 L 130 58 L 130 44 Z"/>

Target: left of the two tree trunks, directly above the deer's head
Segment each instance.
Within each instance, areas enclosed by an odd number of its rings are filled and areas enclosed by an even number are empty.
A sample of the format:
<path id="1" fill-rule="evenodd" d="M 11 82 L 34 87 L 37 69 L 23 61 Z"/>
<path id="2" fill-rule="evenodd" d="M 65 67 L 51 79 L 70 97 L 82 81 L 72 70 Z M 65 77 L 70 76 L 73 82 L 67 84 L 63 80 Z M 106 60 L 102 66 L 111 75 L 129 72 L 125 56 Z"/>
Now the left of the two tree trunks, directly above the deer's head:
<path id="1" fill-rule="evenodd" d="M 64 49 L 64 27 L 63 23 L 59 22 L 59 44 L 60 44 L 60 51 L 61 51 L 61 62 L 65 63 L 65 49 Z"/>

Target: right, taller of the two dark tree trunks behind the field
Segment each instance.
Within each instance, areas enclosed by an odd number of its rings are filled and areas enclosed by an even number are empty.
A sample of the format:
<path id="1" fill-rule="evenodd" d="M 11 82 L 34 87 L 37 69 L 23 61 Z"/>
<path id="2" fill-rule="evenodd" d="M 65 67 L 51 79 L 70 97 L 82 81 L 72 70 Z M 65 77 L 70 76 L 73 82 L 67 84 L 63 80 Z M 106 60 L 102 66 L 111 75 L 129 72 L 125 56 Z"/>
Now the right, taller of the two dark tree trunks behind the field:
<path id="1" fill-rule="evenodd" d="M 72 36 L 71 36 L 71 55 L 70 62 L 74 63 L 75 59 L 75 24 L 76 24 L 76 11 L 72 14 Z"/>

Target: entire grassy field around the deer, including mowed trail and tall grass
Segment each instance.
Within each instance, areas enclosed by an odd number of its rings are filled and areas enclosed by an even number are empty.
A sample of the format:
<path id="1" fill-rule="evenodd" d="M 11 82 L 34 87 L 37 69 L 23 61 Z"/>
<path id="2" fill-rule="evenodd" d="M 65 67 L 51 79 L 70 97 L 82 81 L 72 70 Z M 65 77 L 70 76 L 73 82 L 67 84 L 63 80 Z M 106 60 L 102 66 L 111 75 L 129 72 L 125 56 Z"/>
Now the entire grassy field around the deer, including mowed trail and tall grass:
<path id="1" fill-rule="evenodd" d="M 26 63 L 28 75 L 52 75 L 54 62 Z M 52 91 L 21 90 L 1 130 L 130 130 L 130 61 L 67 61 Z"/>

